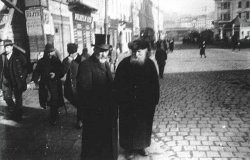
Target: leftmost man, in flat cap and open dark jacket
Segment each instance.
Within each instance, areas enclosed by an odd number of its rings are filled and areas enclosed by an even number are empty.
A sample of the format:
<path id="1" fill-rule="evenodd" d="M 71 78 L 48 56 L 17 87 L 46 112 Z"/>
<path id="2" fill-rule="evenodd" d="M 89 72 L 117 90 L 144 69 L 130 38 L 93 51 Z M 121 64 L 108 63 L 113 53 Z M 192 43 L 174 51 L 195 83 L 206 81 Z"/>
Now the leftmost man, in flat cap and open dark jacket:
<path id="1" fill-rule="evenodd" d="M 0 90 L 7 104 L 6 118 L 20 121 L 23 115 L 22 94 L 27 89 L 28 61 L 23 53 L 13 49 L 13 45 L 11 40 L 4 41 L 5 52 L 0 56 Z"/>

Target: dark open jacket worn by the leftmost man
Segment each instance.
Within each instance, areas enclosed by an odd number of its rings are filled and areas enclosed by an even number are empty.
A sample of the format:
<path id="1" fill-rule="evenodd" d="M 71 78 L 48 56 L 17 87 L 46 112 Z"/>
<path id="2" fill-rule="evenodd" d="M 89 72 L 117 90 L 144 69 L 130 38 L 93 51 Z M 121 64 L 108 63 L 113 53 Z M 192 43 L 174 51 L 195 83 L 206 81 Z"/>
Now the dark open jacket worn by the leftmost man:
<path id="1" fill-rule="evenodd" d="M 12 81 L 12 86 L 8 86 L 7 83 L 9 82 L 7 82 L 3 76 L 4 63 L 7 63 L 5 61 L 5 56 L 5 52 L 0 55 L 0 89 L 6 90 L 6 87 L 11 87 L 21 92 L 25 91 L 27 89 L 26 78 L 28 75 L 28 63 L 26 57 L 22 53 L 13 50 L 12 56 L 9 60 L 9 75 Z"/>

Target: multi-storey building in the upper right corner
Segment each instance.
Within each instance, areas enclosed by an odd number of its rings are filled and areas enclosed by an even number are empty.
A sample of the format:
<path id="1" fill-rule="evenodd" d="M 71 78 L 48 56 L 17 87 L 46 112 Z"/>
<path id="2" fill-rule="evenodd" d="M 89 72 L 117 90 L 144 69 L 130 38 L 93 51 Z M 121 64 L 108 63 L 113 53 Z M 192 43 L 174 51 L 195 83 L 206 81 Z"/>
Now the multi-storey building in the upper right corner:
<path id="1" fill-rule="evenodd" d="M 220 39 L 233 35 L 239 39 L 250 36 L 249 0 L 214 0 L 216 19 L 214 26 Z"/>

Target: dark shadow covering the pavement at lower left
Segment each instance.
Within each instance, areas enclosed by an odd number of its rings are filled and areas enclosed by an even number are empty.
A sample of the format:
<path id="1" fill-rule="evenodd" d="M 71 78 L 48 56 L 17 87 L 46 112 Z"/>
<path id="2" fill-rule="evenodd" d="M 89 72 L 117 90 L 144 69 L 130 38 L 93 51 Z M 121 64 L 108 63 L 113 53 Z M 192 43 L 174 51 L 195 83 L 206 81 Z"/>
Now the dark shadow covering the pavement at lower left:
<path id="1" fill-rule="evenodd" d="M 49 110 L 24 107 L 23 120 L 15 123 L 0 115 L 0 159 L 79 159 L 81 131 L 74 128 L 75 109 L 60 109 L 58 124 L 48 123 Z M 78 149 L 78 150 L 77 150 Z"/>

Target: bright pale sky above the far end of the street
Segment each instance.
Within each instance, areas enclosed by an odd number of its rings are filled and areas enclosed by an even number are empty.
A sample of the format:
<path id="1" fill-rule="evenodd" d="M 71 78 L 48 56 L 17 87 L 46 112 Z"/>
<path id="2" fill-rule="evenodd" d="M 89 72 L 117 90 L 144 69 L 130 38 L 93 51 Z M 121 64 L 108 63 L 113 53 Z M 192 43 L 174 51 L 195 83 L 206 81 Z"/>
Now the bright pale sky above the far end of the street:
<path id="1" fill-rule="evenodd" d="M 159 0 L 160 8 L 168 12 L 180 14 L 200 14 L 214 10 L 214 0 Z"/>

